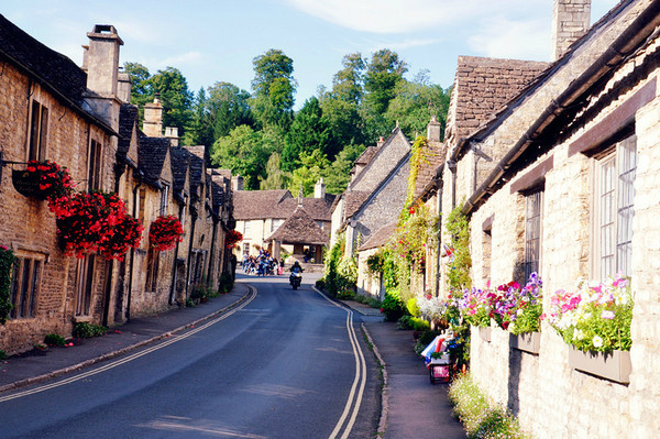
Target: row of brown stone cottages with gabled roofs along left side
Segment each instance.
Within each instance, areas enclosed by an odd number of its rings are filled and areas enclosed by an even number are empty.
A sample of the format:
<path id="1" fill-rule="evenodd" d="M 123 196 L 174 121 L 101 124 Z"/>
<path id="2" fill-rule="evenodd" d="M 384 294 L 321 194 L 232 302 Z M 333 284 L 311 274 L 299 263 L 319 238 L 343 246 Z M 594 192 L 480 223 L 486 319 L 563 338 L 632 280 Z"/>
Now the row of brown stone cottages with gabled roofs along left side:
<path id="1" fill-rule="evenodd" d="M 185 223 L 197 219 L 187 219 L 191 212 L 201 212 L 199 234 L 189 233 L 190 249 L 208 257 L 195 260 L 193 281 L 206 273 L 216 283 L 226 267 L 227 252 L 218 243 L 224 242 L 232 223 L 227 194 L 231 176 L 215 179 L 202 166 L 190 165 L 194 158 L 182 166 L 183 173 L 173 171 L 178 156 L 170 143 L 176 135 L 163 138 L 157 123 L 144 128 L 150 134 L 138 127 L 129 77 L 119 69 L 123 42 L 117 30 L 96 25 L 87 36 L 84 65 L 78 67 L 0 15 L 0 245 L 19 260 L 12 273 L 13 310 L 0 325 L 0 350 L 9 354 L 31 349 L 47 333 L 68 337 L 78 322 L 121 323 L 173 305 L 179 257 L 165 254 L 160 264 L 148 259 L 148 224 L 161 211 L 179 215 Z M 152 107 L 157 111 L 157 102 Z M 128 213 L 145 226 L 141 246 L 123 261 L 65 255 L 47 202 L 16 189 L 13 176 L 30 160 L 67 167 L 77 190 L 118 194 Z M 188 274 L 186 278 L 191 284 Z M 186 294 L 184 285 L 184 298 Z"/>

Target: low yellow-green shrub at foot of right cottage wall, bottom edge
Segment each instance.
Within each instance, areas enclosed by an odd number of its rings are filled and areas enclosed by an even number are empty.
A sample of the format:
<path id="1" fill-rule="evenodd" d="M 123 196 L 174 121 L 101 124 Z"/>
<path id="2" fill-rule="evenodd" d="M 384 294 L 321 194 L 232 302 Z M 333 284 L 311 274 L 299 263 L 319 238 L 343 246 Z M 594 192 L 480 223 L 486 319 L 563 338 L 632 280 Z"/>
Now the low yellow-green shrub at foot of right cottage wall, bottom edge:
<path id="1" fill-rule="evenodd" d="M 528 439 L 518 420 L 503 406 L 492 404 L 470 374 L 455 378 L 449 387 L 454 415 L 463 422 L 469 438 Z"/>

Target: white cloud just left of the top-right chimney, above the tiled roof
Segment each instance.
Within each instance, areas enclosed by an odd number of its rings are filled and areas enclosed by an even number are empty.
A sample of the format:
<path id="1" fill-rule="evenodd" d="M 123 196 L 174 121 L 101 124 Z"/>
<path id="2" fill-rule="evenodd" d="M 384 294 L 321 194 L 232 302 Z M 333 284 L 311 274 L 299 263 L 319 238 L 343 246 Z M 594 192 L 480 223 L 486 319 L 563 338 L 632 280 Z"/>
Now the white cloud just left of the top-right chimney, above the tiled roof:
<path id="1" fill-rule="evenodd" d="M 469 40 L 471 50 L 491 57 L 550 59 L 550 22 L 513 21 L 494 17 L 484 21 Z"/>

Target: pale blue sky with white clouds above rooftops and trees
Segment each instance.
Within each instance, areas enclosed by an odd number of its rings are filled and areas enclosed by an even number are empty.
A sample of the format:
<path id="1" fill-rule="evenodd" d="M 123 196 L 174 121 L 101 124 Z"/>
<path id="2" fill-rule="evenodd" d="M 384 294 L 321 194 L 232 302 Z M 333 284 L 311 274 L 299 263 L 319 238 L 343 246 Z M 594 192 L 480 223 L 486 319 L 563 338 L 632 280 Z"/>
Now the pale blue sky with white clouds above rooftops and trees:
<path id="1" fill-rule="evenodd" d="M 618 0 L 592 0 L 592 23 Z M 391 48 L 408 78 L 451 86 L 459 55 L 550 61 L 552 0 L 3 0 L 0 13 L 78 65 L 95 24 L 124 41 L 120 63 L 182 70 L 193 91 L 228 81 L 250 91 L 252 59 L 294 59 L 296 108 L 331 87 L 343 55 Z"/>

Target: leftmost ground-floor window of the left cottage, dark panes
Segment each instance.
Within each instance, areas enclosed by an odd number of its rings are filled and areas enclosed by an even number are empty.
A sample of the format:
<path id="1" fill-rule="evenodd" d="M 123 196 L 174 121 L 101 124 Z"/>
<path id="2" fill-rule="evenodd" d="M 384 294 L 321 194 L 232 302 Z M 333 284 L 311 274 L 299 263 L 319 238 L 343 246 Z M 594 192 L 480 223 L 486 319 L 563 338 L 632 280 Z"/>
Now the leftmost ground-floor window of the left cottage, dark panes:
<path id="1" fill-rule="evenodd" d="M 36 314 L 36 299 L 41 284 L 43 260 L 18 257 L 13 266 L 10 314 L 12 319 L 32 318 Z"/>

